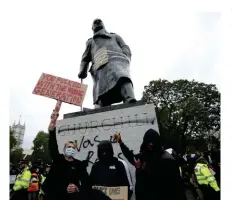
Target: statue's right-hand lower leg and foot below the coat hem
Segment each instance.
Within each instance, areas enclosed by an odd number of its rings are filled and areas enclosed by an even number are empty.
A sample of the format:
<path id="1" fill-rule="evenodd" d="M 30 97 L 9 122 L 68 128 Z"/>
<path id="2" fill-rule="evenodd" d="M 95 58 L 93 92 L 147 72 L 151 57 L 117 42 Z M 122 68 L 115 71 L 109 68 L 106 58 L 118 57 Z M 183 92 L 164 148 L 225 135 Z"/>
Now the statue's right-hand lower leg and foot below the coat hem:
<path id="1" fill-rule="evenodd" d="M 135 94 L 131 82 L 125 82 L 121 85 L 121 95 L 124 103 L 135 103 Z"/>

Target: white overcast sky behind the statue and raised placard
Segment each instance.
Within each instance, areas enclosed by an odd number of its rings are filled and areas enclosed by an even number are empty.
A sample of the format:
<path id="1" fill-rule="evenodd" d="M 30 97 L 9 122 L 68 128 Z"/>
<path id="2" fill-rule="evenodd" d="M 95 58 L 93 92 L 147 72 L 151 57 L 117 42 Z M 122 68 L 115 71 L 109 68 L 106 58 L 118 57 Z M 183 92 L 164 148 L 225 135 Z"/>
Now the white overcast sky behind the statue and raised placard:
<path id="1" fill-rule="evenodd" d="M 195 79 L 220 90 L 222 62 L 221 13 L 194 5 L 153 1 L 16 1 L 6 18 L 11 67 L 10 125 L 26 123 L 23 147 L 31 148 L 40 130 L 47 130 L 55 100 L 32 94 L 41 73 L 79 81 L 81 56 L 92 21 L 101 18 L 106 30 L 122 36 L 132 52 L 131 75 L 137 99 L 151 80 Z M 153 2 L 153 3 L 150 3 Z M 4 55 L 3 55 L 4 56 Z M 92 78 L 84 107 L 92 108 Z M 77 106 L 63 104 L 64 113 Z"/>

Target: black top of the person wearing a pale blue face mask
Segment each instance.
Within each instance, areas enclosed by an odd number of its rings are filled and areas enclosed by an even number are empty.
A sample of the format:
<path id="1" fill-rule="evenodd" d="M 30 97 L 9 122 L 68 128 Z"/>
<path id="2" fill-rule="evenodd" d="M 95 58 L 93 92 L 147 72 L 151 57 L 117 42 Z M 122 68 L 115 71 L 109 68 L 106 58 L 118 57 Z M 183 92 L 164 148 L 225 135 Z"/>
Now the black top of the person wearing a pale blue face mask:
<path id="1" fill-rule="evenodd" d="M 70 199 L 67 187 L 75 184 L 80 192 L 86 192 L 90 188 L 89 176 L 81 161 L 74 159 L 67 161 L 63 154 L 59 154 L 56 133 L 49 133 L 49 149 L 53 163 L 50 172 L 43 184 L 43 191 L 49 200 Z"/>

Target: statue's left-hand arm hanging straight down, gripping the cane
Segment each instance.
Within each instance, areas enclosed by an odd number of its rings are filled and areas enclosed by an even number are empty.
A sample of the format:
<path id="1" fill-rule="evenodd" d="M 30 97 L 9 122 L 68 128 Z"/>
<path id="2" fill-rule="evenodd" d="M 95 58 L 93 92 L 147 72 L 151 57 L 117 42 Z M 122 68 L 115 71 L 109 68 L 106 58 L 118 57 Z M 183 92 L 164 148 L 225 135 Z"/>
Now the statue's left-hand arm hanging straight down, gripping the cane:
<path id="1" fill-rule="evenodd" d="M 87 77 L 89 63 L 91 62 L 91 53 L 90 53 L 91 52 L 91 41 L 92 39 L 89 39 L 86 42 L 86 49 L 81 58 L 80 72 L 78 74 L 78 77 L 81 79 L 84 79 Z"/>

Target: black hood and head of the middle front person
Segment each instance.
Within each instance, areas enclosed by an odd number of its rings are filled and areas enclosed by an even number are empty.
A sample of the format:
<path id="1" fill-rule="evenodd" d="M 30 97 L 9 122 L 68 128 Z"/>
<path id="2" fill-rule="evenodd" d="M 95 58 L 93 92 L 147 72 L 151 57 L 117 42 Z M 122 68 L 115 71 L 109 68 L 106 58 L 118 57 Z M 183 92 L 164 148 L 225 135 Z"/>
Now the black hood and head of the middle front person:
<path id="1" fill-rule="evenodd" d="M 108 140 L 103 140 L 98 144 L 97 156 L 100 161 L 110 161 L 114 157 L 113 146 Z"/>

